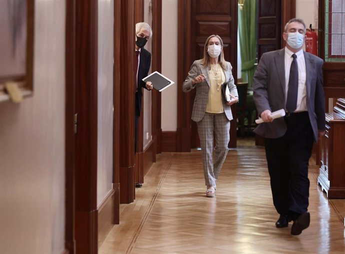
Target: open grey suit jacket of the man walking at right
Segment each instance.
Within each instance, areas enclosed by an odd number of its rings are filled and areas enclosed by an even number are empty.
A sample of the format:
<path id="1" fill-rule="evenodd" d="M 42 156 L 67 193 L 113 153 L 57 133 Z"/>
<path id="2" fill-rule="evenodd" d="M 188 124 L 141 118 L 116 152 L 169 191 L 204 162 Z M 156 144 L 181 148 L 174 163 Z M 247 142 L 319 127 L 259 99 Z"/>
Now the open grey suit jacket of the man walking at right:
<path id="1" fill-rule="evenodd" d="M 303 53 L 306 71 L 306 103 L 314 139 L 317 142 L 318 130 L 325 129 L 323 60 L 313 54 Z M 282 48 L 261 56 L 252 83 L 253 99 L 258 115 L 266 109 L 271 112 L 285 109 L 284 54 L 285 49 Z M 271 123 L 261 123 L 254 132 L 265 138 L 281 137 L 286 132 L 284 118 L 277 118 Z"/>

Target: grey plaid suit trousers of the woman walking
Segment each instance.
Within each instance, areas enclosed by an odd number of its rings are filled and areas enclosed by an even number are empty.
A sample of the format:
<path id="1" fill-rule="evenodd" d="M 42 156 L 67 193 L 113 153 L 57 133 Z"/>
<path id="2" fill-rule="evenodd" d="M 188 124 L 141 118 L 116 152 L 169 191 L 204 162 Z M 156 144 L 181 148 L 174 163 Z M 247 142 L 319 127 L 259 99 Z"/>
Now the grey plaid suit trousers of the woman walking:
<path id="1" fill-rule="evenodd" d="M 224 113 L 205 113 L 201 121 L 197 122 L 197 130 L 200 138 L 205 185 L 215 186 L 228 152 L 227 145 L 230 141 L 230 121 Z"/>

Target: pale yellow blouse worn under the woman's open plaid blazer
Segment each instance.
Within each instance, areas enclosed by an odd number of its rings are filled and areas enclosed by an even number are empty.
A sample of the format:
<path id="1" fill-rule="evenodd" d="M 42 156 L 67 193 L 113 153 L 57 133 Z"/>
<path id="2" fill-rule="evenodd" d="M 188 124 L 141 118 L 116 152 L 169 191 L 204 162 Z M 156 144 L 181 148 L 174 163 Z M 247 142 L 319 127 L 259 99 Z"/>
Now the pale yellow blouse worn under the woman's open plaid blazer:
<path id="1" fill-rule="evenodd" d="M 222 113 L 224 112 L 224 108 L 221 98 L 221 85 L 225 82 L 224 71 L 219 64 L 210 64 L 208 73 L 209 92 L 205 112 Z"/>

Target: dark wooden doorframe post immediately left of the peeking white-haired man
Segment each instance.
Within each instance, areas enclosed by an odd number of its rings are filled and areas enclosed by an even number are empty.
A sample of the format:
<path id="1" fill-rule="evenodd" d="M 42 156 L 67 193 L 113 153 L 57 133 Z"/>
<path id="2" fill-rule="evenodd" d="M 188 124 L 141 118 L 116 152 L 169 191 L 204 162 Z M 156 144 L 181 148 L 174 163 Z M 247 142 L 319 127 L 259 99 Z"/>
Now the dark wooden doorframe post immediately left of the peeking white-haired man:
<path id="1" fill-rule="evenodd" d="M 120 84 L 134 84 L 134 0 L 120 0 Z M 116 71 L 116 70 L 115 70 Z M 120 203 L 134 201 L 134 85 L 120 85 L 119 183 Z"/>

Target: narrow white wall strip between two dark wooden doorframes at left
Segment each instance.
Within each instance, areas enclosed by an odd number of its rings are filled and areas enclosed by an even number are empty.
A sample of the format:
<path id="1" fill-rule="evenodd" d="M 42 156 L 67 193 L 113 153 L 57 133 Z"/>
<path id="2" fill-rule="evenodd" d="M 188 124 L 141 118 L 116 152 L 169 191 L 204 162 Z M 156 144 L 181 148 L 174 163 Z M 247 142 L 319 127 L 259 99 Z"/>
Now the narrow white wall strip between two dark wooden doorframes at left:
<path id="1" fill-rule="evenodd" d="M 97 206 L 112 189 L 113 0 L 98 0 Z"/>

